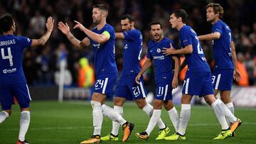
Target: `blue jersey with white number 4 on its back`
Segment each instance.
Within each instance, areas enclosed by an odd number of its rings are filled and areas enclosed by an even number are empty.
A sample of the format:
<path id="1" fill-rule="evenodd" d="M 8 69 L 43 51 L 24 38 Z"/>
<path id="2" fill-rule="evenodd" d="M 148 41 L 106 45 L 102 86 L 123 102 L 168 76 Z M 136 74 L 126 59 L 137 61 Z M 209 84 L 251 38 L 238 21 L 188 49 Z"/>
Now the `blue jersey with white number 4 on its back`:
<path id="1" fill-rule="evenodd" d="M 0 35 L 0 85 L 26 82 L 22 67 L 23 49 L 31 43 L 31 39 L 23 36 Z"/>

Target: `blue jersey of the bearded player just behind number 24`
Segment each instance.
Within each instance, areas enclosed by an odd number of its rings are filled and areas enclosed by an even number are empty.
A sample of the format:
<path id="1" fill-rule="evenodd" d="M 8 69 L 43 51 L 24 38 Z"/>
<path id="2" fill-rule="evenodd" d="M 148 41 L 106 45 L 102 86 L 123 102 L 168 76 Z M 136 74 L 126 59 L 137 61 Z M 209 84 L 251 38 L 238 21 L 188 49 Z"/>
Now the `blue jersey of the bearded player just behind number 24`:
<path id="1" fill-rule="evenodd" d="M 137 30 L 124 31 L 123 75 L 137 74 L 141 70 L 142 33 Z"/>

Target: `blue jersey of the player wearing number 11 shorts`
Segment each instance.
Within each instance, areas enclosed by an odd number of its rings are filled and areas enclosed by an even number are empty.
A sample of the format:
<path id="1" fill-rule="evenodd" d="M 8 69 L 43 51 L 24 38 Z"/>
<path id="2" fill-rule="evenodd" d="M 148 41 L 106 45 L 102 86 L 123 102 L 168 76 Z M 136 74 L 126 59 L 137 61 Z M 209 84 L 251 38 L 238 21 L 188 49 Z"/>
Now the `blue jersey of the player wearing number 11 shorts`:
<path id="1" fill-rule="evenodd" d="M 163 76 L 172 77 L 173 75 L 173 72 L 172 72 L 173 60 L 171 56 L 166 56 L 163 54 L 163 52 L 161 52 L 163 48 L 170 48 L 171 47 L 170 43 L 175 48 L 174 42 L 166 37 L 164 37 L 164 39 L 159 42 L 156 42 L 154 40 L 149 41 L 146 57 L 153 60 L 155 79 L 159 79 L 160 77 L 163 77 Z"/>

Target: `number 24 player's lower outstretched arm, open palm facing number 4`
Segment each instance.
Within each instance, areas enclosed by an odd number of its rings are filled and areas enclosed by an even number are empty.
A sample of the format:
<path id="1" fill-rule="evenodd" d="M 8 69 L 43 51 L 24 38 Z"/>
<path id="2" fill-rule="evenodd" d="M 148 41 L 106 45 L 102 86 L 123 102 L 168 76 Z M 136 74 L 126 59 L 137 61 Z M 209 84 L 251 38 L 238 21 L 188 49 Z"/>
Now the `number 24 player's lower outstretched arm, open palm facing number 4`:
<path id="1" fill-rule="evenodd" d="M 70 40 L 70 43 L 75 45 L 76 48 L 85 48 L 86 46 L 90 45 L 89 38 L 84 38 L 82 41 L 75 38 L 75 36 L 70 32 L 68 23 L 64 24 L 62 21 L 58 22 L 58 29 L 67 36 L 68 40 Z"/>

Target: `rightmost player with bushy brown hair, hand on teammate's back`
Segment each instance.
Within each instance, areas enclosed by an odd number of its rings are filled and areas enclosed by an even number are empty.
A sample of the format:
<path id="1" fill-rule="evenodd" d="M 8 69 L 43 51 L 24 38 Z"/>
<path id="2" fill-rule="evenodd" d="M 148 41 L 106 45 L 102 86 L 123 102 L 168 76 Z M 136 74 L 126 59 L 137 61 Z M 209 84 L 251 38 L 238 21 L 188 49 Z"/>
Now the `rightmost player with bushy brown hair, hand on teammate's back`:
<path id="1" fill-rule="evenodd" d="M 213 89 L 214 96 L 220 92 L 220 99 L 234 114 L 233 102 L 230 99 L 230 91 L 233 79 L 237 82 L 241 79 L 238 71 L 237 59 L 235 55 L 235 45 L 231 37 L 230 27 L 220 20 L 223 18 L 223 7 L 220 4 L 210 3 L 206 6 L 206 18 L 213 27 L 212 33 L 199 35 L 199 40 L 213 40 L 214 55 L 214 72 L 213 72 Z M 231 121 L 227 122 L 232 125 Z M 240 123 L 239 123 L 240 124 Z M 233 132 L 233 136 L 235 132 Z"/>

